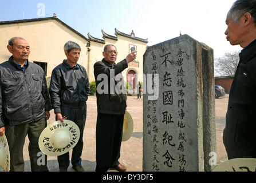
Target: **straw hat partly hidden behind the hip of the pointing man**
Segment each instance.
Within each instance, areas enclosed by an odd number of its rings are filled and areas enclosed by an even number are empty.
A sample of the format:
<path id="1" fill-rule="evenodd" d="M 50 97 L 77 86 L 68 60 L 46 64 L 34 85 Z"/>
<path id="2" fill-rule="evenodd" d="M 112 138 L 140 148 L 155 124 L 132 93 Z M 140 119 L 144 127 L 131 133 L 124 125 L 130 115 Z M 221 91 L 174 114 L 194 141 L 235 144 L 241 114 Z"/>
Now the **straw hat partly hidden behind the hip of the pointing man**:
<path id="1" fill-rule="evenodd" d="M 124 126 L 123 126 L 123 138 L 122 141 L 128 141 L 133 133 L 133 120 L 130 113 L 125 111 L 124 114 Z"/>

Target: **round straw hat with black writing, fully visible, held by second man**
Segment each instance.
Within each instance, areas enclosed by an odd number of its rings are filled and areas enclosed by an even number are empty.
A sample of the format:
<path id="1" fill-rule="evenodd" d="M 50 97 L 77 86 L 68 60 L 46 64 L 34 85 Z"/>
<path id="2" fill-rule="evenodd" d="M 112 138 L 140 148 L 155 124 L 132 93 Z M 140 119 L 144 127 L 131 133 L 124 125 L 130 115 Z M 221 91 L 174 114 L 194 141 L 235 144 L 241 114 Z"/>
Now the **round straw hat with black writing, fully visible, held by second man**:
<path id="1" fill-rule="evenodd" d="M 42 131 L 38 145 L 44 154 L 60 156 L 73 149 L 79 138 L 80 130 L 73 121 L 56 121 Z"/>

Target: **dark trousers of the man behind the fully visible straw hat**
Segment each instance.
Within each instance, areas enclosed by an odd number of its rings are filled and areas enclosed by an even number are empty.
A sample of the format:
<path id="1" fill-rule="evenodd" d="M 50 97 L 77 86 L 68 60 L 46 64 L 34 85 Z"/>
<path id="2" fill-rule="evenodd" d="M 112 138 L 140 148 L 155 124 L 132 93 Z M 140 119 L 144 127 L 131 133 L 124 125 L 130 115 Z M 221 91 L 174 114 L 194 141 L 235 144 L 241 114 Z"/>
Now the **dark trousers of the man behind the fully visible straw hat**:
<path id="1" fill-rule="evenodd" d="M 80 138 L 72 149 L 72 157 L 71 157 L 71 164 L 73 166 L 81 165 L 81 155 L 82 149 L 84 147 L 84 142 L 82 140 L 84 134 L 84 127 L 85 127 L 85 120 L 86 120 L 86 104 L 84 107 L 81 108 L 70 108 L 67 106 L 61 106 L 61 114 L 62 116 L 66 116 L 67 120 L 73 121 L 77 124 L 80 130 Z M 69 166 L 69 152 L 58 156 L 58 166 L 60 170 L 68 169 Z"/>

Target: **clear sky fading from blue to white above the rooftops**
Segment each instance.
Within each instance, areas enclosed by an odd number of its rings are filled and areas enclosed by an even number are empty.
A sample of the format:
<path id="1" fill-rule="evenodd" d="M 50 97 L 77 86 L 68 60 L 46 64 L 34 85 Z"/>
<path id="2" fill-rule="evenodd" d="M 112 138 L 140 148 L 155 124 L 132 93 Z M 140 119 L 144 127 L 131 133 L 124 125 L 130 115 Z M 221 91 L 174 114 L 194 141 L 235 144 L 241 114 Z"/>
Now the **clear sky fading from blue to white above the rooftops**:
<path id="1" fill-rule="evenodd" d="M 39 3 L 45 17 L 57 18 L 88 37 L 102 38 L 101 29 L 115 35 L 115 28 L 136 37 L 148 38 L 148 46 L 182 34 L 206 43 L 214 57 L 241 50 L 226 41 L 225 20 L 235 0 L 0 0 L 0 21 L 38 17 Z"/>

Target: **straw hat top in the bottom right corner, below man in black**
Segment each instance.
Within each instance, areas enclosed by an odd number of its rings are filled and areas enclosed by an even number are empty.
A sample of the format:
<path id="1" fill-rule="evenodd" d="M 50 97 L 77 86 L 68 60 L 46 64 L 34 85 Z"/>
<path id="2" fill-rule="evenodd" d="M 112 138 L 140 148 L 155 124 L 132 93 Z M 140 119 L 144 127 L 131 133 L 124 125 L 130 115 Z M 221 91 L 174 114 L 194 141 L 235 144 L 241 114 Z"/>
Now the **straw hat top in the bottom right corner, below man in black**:
<path id="1" fill-rule="evenodd" d="M 255 172 L 256 158 L 235 158 L 225 161 L 213 170 L 213 172 Z"/>

